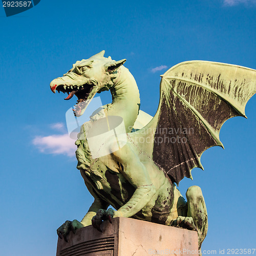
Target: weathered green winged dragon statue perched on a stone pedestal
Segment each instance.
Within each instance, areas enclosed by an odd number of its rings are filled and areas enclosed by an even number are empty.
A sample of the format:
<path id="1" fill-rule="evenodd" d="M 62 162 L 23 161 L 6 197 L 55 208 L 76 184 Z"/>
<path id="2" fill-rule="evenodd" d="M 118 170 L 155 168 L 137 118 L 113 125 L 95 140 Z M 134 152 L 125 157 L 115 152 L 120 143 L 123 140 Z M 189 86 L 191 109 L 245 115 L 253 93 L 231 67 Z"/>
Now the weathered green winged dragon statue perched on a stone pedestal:
<path id="1" fill-rule="evenodd" d="M 66 221 L 57 234 L 67 241 L 78 228 L 93 224 L 101 231 L 103 220 L 132 217 L 196 230 L 200 248 L 208 228 L 202 191 L 189 187 L 185 201 L 175 183 L 192 178 L 194 167 L 203 169 L 200 158 L 207 148 L 223 147 L 219 133 L 227 119 L 246 117 L 245 105 L 256 92 L 256 70 L 210 61 L 179 63 L 161 75 L 160 102 L 151 119 L 139 110 L 139 90 L 125 61 L 105 58 L 101 51 L 77 61 L 50 84 L 54 93 L 67 92 L 66 100 L 77 96 L 76 117 L 96 93 L 112 94 L 112 103 L 92 114 L 75 142 L 77 168 L 95 200 L 81 222 Z M 88 131 L 111 117 L 123 120 L 125 143 L 117 150 L 108 143 L 109 154 L 92 157 Z"/>

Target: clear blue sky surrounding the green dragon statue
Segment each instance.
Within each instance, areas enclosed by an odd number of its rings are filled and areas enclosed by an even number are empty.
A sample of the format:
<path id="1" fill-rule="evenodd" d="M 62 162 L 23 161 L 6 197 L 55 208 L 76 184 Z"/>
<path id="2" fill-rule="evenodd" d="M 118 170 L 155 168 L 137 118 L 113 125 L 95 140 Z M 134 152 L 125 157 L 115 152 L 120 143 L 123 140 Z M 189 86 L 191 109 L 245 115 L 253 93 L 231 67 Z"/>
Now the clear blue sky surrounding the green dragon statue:
<path id="1" fill-rule="evenodd" d="M 256 69 L 255 12 L 254 0 L 41 0 L 11 17 L 0 8 L 0 255 L 54 255 L 56 229 L 82 219 L 93 201 L 66 135 L 72 105 L 50 91 L 51 80 L 105 50 L 115 60 L 127 59 L 141 109 L 154 115 L 159 75 L 179 62 Z M 108 92 L 100 96 L 104 104 L 111 101 Z M 202 248 L 217 254 L 255 248 L 255 97 L 246 106 L 248 119 L 223 125 L 225 150 L 207 150 L 205 170 L 194 169 L 194 180 L 179 186 L 183 196 L 191 185 L 202 188 L 209 217 Z"/>

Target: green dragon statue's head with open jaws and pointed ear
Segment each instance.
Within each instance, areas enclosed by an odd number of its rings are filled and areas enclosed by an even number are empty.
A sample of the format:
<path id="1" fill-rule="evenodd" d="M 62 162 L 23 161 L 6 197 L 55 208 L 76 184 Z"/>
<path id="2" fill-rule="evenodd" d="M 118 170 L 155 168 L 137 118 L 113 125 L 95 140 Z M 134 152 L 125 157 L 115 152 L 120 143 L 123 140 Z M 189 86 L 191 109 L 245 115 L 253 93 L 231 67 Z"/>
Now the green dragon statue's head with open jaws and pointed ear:
<path id="1" fill-rule="evenodd" d="M 73 109 L 77 117 L 84 113 L 96 93 L 109 90 L 113 86 L 117 69 L 126 61 L 126 59 L 115 61 L 111 57 L 105 58 L 104 53 L 105 51 L 101 51 L 89 59 L 76 61 L 68 73 L 50 83 L 53 93 L 56 91 L 68 93 L 65 100 L 77 96 L 77 104 Z"/>

